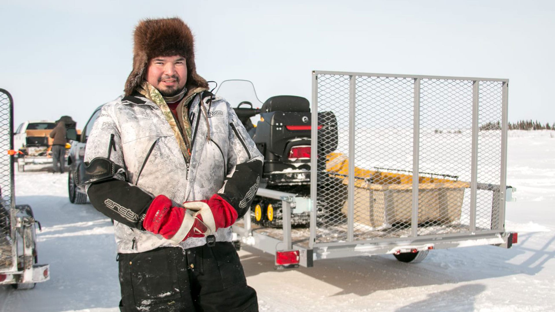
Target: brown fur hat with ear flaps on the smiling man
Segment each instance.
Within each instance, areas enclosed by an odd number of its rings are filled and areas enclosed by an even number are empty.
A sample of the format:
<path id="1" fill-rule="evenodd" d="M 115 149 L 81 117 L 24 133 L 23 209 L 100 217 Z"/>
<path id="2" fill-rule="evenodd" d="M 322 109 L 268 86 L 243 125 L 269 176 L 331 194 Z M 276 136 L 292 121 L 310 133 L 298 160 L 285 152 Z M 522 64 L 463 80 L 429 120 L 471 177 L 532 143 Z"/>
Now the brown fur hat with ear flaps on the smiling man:
<path id="1" fill-rule="evenodd" d="M 133 70 L 125 82 L 125 95 L 133 93 L 146 78 L 150 59 L 159 56 L 183 56 L 187 65 L 186 87 L 208 87 L 196 73 L 193 33 L 180 18 L 143 19 L 135 27 Z"/>

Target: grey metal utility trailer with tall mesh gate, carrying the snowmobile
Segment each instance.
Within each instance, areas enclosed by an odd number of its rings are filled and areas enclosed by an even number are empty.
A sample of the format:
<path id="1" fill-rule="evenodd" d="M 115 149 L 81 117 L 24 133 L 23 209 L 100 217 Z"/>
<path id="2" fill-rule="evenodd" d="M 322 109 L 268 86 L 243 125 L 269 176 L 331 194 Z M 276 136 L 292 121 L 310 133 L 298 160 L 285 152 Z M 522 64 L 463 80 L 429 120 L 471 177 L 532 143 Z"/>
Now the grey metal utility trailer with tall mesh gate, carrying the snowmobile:
<path id="1" fill-rule="evenodd" d="M 260 188 L 259 197 L 281 200 L 282 227 L 247 217 L 234 232 L 275 254 L 278 267 L 377 254 L 414 263 L 433 249 L 511 248 L 507 103 L 508 79 L 314 71 L 310 197 Z M 337 118 L 339 145 L 319 155 L 326 132 L 317 114 L 325 111 Z M 317 203 L 334 207 L 321 214 Z M 292 227 L 291 217 L 305 212 L 309 227 Z"/>

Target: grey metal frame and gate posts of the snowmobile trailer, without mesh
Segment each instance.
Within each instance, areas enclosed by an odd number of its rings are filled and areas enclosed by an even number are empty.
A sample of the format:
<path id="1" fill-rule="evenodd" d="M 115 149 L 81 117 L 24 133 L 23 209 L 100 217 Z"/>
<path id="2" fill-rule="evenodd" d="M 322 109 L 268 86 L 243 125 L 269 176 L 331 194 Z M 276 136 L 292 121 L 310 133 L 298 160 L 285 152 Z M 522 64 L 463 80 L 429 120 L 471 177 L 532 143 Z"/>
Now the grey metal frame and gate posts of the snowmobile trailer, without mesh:
<path id="1" fill-rule="evenodd" d="M 397 75 L 397 74 L 376 74 L 376 73 L 357 73 L 357 72 L 329 72 L 329 71 L 313 71 L 312 72 L 312 124 L 311 124 L 311 137 L 318 138 L 318 112 L 319 112 L 319 78 L 321 76 L 341 76 L 349 79 L 349 173 L 355 173 L 355 138 L 354 133 L 356 130 L 355 120 L 355 107 L 357 102 L 356 85 L 357 78 L 386 78 L 386 79 L 411 79 L 412 80 L 412 215 L 410 218 L 410 234 L 398 237 L 386 238 L 369 238 L 357 239 L 354 235 L 354 215 L 355 215 L 355 174 L 347 174 L 347 206 L 348 212 L 346 213 L 347 226 L 345 236 L 336 241 L 319 241 L 317 230 L 317 196 L 319 191 L 317 183 L 319 182 L 317 175 L 317 148 L 318 140 L 311 140 L 311 198 L 306 200 L 296 197 L 296 194 L 276 192 L 260 188 L 257 195 L 261 197 L 280 199 L 282 201 L 282 229 L 279 235 L 269 234 L 266 228 L 256 227 L 250 222 L 250 211 L 245 214 L 243 225 L 241 222 L 233 226 L 234 232 L 237 233 L 241 241 L 257 249 L 263 250 L 270 254 L 276 255 L 276 266 L 312 266 L 314 260 L 331 259 L 331 258 L 344 258 L 348 256 L 370 256 L 377 254 L 401 254 L 401 253 L 418 253 L 419 251 L 431 249 L 454 248 L 462 246 L 477 246 L 477 245 L 496 245 L 503 248 L 511 248 L 513 243 L 517 242 L 517 233 L 507 233 L 504 229 L 505 218 L 505 204 L 506 201 L 512 200 L 512 192 L 516 189 L 507 187 L 506 185 L 506 170 L 507 170 L 507 107 L 508 107 L 508 79 L 496 78 L 469 78 L 469 77 L 445 77 L 445 76 L 417 76 L 417 75 Z M 418 210 L 418 187 L 420 183 L 420 132 L 421 132 L 421 82 L 431 81 L 435 79 L 438 81 L 447 80 L 448 82 L 461 82 L 472 84 L 472 145 L 471 145 L 471 174 L 470 177 L 470 211 L 468 212 L 468 224 L 462 230 L 456 233 L 440 233 L 440 234 L 426 234 L 418 233 L 420 225 L 418 223 L 419 210 Z M 480 113 L 480 84 L 498 83 L 501 87 L 500 101 L 501 101 L 501 116 L 499 117 L 501 130 L 501 144 L 498 156 L 499 177 L 497 184 L 480 183 L 478 182 L 478 160 L 480 155 L 478 153 L 479 139 L 478 134 L 482 130 L 478 123 Z M 346 84 L 346 83 L 345 83 Z M 497 91 L 496 91 L 497 92 Z M 497 102 L 496 102 L 497 103 Z M 478 192 L 492 192 L 491 204 L 491 224 L 490 228 L 486 229 L 482 225 L 477 227 L 477 193 Z M 311 212 L 310 222 L 310 235 L 304 240 L 292 241 L 291 229 L 291 212 L 299 205 L 308 205 L 307 210 Z M 483 216 L 481 216 L 483 217 Z M 290 264 L 279 261 L 280 255 L 293 253 L 292 256 L 296 261 L 291 261 Z M 291 259 L 291 254 L 289 259 Z"/>

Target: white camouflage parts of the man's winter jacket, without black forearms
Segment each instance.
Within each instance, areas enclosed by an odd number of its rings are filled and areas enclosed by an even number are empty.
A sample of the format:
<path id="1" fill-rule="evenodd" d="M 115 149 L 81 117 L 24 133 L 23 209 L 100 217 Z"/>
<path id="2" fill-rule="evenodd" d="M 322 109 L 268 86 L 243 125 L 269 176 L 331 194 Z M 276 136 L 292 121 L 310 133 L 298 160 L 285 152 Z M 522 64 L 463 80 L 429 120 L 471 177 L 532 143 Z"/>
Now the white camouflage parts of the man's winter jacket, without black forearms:
<path id="1" fill-rule="evenodd" d="M 224 188 L 224 180 L 236 165 L 262 161 L 263 156 L 230 104 L 216 95 L 210 105 L 207 99 L 201 99 L 198 93 L 191 100 L 189 118 L 194 141 L 190 164 L 185 162 L 162 110 L 141 95 L 119 97 L 104 104 L 88 137 L 84 160 L 108 157 L 113 134 L 115 148 L 109 158 L 125 168 L 128 183 L 154 196 L 163 194 L 176 207 L 209 199 Z M 162 235 L 122 223 L 114 222 L 114 230 L 118 253 L 174 246 Z M 215 236 L 216 241 L 231 241 L 231 228 L 218 229 Z M 205 238 L 188 238 L 179 246 L 186 249 L 205 243 Z"/>

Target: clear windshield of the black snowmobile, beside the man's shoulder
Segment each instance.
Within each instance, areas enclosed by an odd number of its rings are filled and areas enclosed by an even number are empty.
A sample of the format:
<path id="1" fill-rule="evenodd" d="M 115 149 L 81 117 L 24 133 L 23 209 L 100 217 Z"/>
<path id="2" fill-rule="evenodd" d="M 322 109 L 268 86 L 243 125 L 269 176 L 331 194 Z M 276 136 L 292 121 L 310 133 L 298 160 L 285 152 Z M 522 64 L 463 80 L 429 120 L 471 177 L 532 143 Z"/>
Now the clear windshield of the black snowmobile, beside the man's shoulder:
<path id="1" fill-rule="evenodd" d="M 256 96 L 254 84 L 249 80 L 224 80 L 216 90 L 216 95 L 227 100 L 233 108 L 241 102 L 249 102 L 253 104 L 253 108 L 261 108 L 263 104 Z M 249 105 L 243 104 L 241 107 L 249 107 Z"/>

